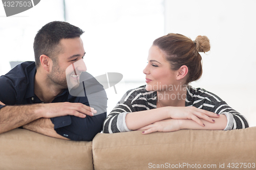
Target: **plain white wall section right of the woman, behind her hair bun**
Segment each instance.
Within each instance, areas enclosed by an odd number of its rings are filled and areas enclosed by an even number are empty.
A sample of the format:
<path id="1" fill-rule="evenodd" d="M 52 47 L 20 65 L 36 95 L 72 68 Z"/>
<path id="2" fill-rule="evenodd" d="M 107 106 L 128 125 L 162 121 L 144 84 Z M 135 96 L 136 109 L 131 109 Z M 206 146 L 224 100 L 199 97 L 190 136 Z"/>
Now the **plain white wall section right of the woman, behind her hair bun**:
<path id="1" fill-rule="evenodd" d="M 165 34 L 206 35 L 203 76 L 191 85 L 214 92 L 256 126 L 256 1 L 165 0 Z"/>

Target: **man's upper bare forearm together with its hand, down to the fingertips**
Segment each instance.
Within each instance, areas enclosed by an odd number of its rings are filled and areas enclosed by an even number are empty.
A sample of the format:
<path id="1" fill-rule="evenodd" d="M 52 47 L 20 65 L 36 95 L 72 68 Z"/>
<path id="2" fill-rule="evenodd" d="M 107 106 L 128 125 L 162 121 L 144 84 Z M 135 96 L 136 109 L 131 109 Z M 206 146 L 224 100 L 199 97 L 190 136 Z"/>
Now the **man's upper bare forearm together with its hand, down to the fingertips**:
<path id="1" fill-rule="evenodd" d="M 4 105 L 1 102 L 2 105 Z M 6 106 L 0 109 L 0 134 L 27 125 L 39 118 L 74 115 L 84 118 L 97 113 L 93 108 L 81 103 L 49 103 L 20 106 Z"/>

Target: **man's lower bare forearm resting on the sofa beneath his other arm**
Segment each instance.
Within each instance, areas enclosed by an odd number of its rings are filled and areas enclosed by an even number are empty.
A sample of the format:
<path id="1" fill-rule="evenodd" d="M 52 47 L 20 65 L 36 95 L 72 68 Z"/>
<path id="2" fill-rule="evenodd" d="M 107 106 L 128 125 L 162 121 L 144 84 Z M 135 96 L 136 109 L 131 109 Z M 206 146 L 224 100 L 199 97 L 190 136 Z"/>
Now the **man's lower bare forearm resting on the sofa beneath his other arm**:
<path id="1" fill-rule="evenodd" d="M 24 125 L 23 128 L 55 138 L 68 139 L 56 133 L 56 131 L 54 130 L 54 125 L 50 118 L 36 119 L 33 122 Z"/>

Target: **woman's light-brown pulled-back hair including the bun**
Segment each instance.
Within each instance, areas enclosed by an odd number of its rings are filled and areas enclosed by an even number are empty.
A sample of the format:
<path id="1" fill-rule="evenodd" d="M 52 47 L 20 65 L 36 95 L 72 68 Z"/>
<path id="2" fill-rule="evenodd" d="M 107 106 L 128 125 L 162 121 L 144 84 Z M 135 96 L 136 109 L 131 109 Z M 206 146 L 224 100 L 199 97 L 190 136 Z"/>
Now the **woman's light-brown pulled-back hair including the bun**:
<path id="1" fill-rule="evenodd" d="M 188 67 L 186 84 L 200 79 L 203 70 L 199 52 L 205 53 L 210 50 L 209 39 L 206 36 L 199 35 L 193 41 L 184 35 L 169 33 L 157 38 L 153 45 L 160 48 L 172 70 L 178 70 L 182 65 Z"/>

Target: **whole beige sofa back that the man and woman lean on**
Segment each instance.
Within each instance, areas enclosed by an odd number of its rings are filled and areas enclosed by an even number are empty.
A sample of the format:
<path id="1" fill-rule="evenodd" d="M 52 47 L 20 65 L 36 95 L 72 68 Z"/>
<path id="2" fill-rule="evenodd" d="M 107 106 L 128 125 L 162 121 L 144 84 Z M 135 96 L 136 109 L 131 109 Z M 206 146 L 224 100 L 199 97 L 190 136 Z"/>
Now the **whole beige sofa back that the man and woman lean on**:
<path id="1" fill-rule="evenodd" d="M 99 133 L 93 141 L 24 129 L 0 134 L 0 169 L 256 169 L 255 164 L 256 127 Z"/>

